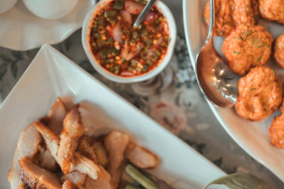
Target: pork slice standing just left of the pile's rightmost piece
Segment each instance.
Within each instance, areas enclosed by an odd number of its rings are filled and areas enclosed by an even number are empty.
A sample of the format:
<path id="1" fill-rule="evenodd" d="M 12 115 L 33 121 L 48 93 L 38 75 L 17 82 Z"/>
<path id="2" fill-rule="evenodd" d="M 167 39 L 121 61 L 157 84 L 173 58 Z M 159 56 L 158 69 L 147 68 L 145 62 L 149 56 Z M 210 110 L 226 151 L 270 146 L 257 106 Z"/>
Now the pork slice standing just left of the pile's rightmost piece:
<path id="1" fill-rule="evenodd" d="M 129 135 L 118 131 L 110 132 L 104 139 L 104 147 L 106 147 L 109 154 L 107 171 L 114 181 L 115 188 L 119 185 L 121 173 L 124 168 L 124 151 L 127 144 L 129 144 Z"/>

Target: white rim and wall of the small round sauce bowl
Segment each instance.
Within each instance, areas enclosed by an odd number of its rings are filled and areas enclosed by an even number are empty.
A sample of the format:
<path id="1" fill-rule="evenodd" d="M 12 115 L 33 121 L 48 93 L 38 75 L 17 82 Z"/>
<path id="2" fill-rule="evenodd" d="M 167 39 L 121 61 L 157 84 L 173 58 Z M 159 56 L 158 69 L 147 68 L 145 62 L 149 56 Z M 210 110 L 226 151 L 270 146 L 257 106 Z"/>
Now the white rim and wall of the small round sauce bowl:
<path id="1" fill-rule="evenodd" d="M 87 57 L 89 58 L 89 61 L 91 62 L 94 69 L 96 69 L 99 72 L 99 74 L 102 74 L 104 77 L 106 77 L 111 81 L 116 81 L 118 83 L 133 83 L 133 82 L 145 81 L 147 79 L 151 79 L 153 76 L 159 74 L 160 71 L 162 71 L 167 66 L 167 64 L 170 62 L 170 58 L 173 55 L 173 50 L 175 47 L 175 40 L 177 35 L 177 28 L 175 25 L 175 18 L 173 17 L 173 14 L 170 12 L 168 6 L 166 6 L 161 1 L 157 1 L 156 6 L 158 10 L 161 13 L 163 13 L 163 16 L 165 16 L 166 20 L 168 21 L 169 31 L 170 31 L 170 43 L 168 45 L 168 50 L 163 61 L 160 62 L 158 66 L 155 67 L 153 70 L 148 71 L 146 74 L 142 74 L 139 76 L 132 76 L 132 77 L 118 76 L 107 71 L 107 69 L 104 69 L 104 67 L 102 67 L 101 64 L 99 64 L 99 62 L 96 61 L 94 55 L 92 54 L 91 46 L 89 44 L 89 33 L 91 29 L 90 25 L 92 23 L 91 22 L 92 18 L 94 18 L 94 16 L 97 13 L 97 10 L 99 10 L 99 8 L 97 7 L 105 6 L 110 1 L 113 0 L 99 1 L 97 6 L 95 6 L 91 11 L 89 11 L 87 17 L 84 20 L 83 29 L 82 29 L 82 45 L 84 47 L 84 51 L 87 54 Z"/>

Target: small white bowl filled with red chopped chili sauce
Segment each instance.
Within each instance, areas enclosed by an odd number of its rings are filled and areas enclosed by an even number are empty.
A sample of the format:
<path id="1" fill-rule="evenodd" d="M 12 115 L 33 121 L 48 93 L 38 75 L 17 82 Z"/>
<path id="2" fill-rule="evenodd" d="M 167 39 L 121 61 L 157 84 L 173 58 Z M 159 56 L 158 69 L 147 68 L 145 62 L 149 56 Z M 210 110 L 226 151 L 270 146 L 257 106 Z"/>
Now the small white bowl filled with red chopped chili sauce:
<path id="1" fill-rule="evenodd" d="M 145 81 L 170 62 L 176 25 L 163 2 L 158 1 L 133 28 L 146 4 L 146 0 L 102 0 L 85 18 L 84 51 L 94 69 L 111 81 Z"/>

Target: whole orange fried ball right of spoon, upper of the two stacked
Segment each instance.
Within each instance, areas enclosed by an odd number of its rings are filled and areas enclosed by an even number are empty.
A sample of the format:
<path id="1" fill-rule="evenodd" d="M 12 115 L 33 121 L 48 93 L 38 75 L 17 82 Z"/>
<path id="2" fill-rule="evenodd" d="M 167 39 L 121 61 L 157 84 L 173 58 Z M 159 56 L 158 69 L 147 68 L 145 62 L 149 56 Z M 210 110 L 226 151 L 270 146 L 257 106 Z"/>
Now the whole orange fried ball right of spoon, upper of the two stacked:
<path id="1" fill-rule="evenodd" d="M 261 25 L 241 24 L 225 38 L 222 51 L 231 70 L 242 76 L 252 67 L 266 64 L 272 41 L 272 35 Z"/>

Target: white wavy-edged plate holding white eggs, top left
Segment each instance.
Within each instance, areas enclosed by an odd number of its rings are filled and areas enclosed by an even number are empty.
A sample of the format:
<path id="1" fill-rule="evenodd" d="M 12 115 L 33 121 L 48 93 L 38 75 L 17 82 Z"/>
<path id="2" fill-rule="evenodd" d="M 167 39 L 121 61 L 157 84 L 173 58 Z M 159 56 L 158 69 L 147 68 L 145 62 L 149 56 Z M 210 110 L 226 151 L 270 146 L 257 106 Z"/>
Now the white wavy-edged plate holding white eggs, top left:
<path id="1" fill-rule="evenodd" d="M 67 16 L 48 20 L 28 11 L 22 0 L 0 14 L 0 46 L 11 50 L 31 50 L 47 43 L 62 42 L 82 27 L 84 18 L 96 0 L 79 0 Z"/>

